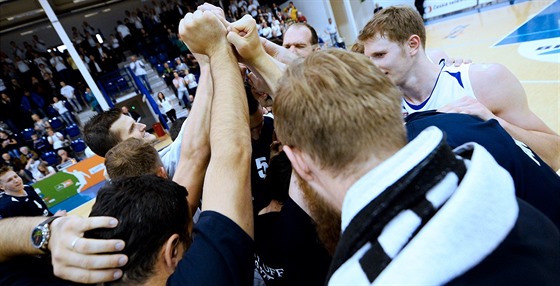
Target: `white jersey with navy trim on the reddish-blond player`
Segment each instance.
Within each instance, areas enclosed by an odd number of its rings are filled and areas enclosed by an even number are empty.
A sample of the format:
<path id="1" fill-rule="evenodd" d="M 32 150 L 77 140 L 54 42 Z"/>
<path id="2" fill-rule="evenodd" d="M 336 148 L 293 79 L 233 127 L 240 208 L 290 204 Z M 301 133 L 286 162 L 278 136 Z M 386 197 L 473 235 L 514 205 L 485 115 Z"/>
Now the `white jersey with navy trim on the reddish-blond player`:
<path id="1" fill-rule="evenodd" d="M 459 67 L 445 66 L 436 81 L 432 94 L 421 104 L 414 105 L 402 100 L 403 117 L 419 111 L 434 110 L 464 96 L 476 98 L 469 77 L 470 64 Z"/>

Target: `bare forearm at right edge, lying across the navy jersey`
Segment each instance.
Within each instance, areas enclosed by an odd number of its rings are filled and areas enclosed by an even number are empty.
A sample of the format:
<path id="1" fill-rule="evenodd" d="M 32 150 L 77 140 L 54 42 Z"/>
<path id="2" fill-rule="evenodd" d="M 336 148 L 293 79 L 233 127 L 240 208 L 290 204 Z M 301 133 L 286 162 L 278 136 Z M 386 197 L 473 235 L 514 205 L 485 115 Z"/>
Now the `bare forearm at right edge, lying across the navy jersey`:
<path id="1" fill-rule="evenodd" d="M 531 147 L 554 171 L 560 169 L 560 136 L 541 131 L 526 130 L 502 118 L 497 118 L 497 120 L 511 137 Z"/>

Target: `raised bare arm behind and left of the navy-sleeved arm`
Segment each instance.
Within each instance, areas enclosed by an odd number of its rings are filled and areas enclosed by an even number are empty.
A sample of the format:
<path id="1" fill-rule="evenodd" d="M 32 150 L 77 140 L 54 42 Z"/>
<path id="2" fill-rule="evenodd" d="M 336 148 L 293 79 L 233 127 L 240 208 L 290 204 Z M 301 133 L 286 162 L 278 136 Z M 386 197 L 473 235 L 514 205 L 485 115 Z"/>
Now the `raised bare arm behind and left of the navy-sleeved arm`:
<path id="1" fill-rule="evenodd" d="M 187 188 L 187 200 L 194 212 L 200 204 L 204 175 L 210 160 L 210 114 L 213 98 L 210 62 L 207 56 L 194 54 L 200 64 L 196 100 L 185 122 L 181 158 L 173 181 Z"/>

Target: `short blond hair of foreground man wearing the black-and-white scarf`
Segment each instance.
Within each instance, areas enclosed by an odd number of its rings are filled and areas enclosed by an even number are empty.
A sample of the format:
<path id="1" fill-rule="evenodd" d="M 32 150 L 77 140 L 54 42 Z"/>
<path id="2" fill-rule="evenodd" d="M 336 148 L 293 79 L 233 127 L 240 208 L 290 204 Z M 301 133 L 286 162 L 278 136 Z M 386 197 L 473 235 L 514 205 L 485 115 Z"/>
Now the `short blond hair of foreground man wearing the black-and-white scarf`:
<path id="1" fill-rule="evenodd" d="M 292 64 L 276 91 L 281 142 L 344 173 L 406 144 L 401 93 L 364 55 L 332 49 Z"/>

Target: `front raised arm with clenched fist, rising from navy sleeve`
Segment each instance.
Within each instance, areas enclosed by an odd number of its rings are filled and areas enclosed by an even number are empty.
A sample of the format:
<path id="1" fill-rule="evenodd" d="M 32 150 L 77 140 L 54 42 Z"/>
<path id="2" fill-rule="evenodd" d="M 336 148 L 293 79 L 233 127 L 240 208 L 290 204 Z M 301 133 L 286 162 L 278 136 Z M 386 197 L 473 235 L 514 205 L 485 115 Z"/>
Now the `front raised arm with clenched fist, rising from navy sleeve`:
<path id="1" fill-rule="evenodd" d="M 212 156 L 204 180 L 202 209 L 225 215 L 253 237 L 249 111 L 237 59 L 226 40 L 225 26 L 212 12 L 187 14 L 180 31 L 191 51 L 209 56 L 214 82 Z"/>

